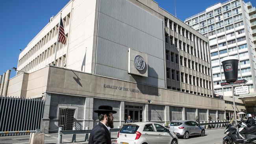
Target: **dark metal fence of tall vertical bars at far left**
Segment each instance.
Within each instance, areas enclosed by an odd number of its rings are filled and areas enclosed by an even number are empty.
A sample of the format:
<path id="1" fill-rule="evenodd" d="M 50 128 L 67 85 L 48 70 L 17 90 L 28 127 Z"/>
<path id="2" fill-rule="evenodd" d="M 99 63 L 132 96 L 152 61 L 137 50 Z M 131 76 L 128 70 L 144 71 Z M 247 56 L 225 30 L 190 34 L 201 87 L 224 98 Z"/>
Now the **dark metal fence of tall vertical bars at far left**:
<path id="1" fill-rule="evenodd" d="M 0 131 L 28 131 L 41 127 L 45 101 L 42 99 L 0 97 Z M 26 135 L 2 134 L 7 135 Z"/>

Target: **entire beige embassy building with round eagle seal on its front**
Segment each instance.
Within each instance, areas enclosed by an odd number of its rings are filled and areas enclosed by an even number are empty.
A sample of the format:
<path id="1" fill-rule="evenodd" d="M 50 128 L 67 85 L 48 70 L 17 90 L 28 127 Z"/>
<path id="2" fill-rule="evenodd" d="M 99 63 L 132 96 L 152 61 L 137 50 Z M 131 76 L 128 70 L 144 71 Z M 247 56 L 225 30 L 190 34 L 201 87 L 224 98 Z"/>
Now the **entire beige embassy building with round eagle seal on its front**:
<path id="1" fill-rule="evenodd" d="M 60 12 L 20 53 L 7 91 L 43 97 L 45 132 L 67 125 L 60 120 L 67 115 L 78 129 L 91 129 L 100 105 L 117 111 L 115 127 L 128 115 L 162 124 L 226 119 L 232 106 L 213 97 L 208 38 L 155 1 L 71 0 L 61 13 L 67 42 L 58 44 L 57 59 Z"/>

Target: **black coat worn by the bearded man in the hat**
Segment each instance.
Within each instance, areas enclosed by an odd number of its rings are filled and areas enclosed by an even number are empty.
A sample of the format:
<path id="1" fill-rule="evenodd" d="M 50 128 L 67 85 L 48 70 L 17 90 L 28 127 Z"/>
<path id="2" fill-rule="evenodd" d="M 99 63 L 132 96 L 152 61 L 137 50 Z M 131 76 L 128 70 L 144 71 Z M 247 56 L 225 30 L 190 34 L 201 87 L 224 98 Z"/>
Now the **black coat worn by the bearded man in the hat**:
<path id="1" fill-rule="evenodd" d="M 93 127 L 88 144 L 111 144 L 110 133 L 104 124 L 99 122 Z"/>

